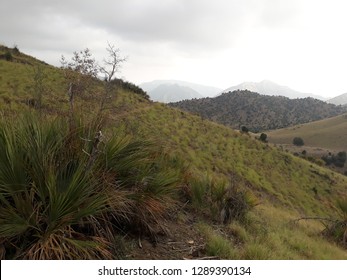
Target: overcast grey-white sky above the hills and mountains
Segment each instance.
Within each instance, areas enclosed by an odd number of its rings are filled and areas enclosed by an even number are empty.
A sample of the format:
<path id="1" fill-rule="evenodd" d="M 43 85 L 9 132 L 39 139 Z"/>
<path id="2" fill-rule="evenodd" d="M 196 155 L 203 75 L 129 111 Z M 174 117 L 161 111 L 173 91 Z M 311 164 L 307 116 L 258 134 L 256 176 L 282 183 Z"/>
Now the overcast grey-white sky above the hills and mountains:
<path id="1" fill-rule="evenodd" d="M 58 66 L 110 42 L 136 84 L 269 79 L 333 97 L 347 92 L 346 14 L 346 0 L 2 0 L 0 44 Z"/>

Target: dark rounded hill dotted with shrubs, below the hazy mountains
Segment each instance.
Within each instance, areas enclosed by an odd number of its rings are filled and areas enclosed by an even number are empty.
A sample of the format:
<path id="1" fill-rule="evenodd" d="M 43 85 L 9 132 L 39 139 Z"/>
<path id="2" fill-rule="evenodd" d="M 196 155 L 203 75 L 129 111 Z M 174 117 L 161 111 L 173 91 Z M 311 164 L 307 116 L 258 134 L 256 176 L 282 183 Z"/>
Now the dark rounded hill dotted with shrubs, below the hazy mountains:
<path id="1" fill-rule="evenodd" d="M 246 126 L 253 132 L 306 123 L 345 112 L 342 107 L 313 98 L 289 99 L 247 90 L 223 93 L 215 98 L 170 103 L 170 106 L 235 129 Z"/>

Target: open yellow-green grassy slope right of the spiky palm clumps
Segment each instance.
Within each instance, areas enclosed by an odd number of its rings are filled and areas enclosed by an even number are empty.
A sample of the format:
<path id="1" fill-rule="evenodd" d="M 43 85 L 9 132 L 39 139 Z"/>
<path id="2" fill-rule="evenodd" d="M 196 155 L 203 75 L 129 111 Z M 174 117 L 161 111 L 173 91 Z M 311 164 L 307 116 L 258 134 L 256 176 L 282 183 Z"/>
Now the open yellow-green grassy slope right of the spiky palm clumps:
<path id="1" fill-rule="evenodd" d="M 206 178 L 202 179 L 207 186 L 204 192 L 209 192 L 212 178 L 223 178 L 238 187 L 247 186 L 260 200 L 260 205 L 250 213 L 247 226 L 234 221 L 229 230 L 211 225 L 207 232 L 202 230 L 208 244 L 215 242 L 211 236 L 213 232 L 215 235 L 219 232 L 227 240 L 224 247 L 231 242 L 232 253 L 224 258 L 314 259 L 319 256 L 329 259 L 333 256 L 321 250 L 334 251 L 333 258 L 346 257 L 318 237 L 317 233 L 323 229 L 319 222 L 291 222 L 307 216 L 334 216 L 334 201 L 339 195 L 346 195 L 345 177 L 271 148 L 248 135 L 160 104 L 129 117 L 122 118 L 129 131 L 137 131 L 137 134 L 141 126 L 140 135 L 154 137 L 158 143 L 170 147 L 171 153 L 184 158 L 194 174 Z M 200 210 L 204 213 L 211 208 L 210 198 L 205 199 L 206 204 Z M 198 242 L 198 238 L 193 240 Z M 297 249 L 305 252 L 305 256 L 298 254 Z M 153 251 L 148 249 L 148 252 Z"/>

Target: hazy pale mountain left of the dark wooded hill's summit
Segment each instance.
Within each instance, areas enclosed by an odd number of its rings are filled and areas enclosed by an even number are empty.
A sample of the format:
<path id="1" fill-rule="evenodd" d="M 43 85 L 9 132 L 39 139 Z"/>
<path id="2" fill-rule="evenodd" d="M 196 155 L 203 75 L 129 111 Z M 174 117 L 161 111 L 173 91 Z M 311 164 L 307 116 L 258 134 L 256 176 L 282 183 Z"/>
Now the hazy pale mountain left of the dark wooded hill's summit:
<path id="1" fill-rule="evenodd" d="M 153 101 L 163 103 L 215 96 L 222 91 L 220 88 L 179 80 L 155 80 L 142 83 L 140 87 L 148 93 Z"/>

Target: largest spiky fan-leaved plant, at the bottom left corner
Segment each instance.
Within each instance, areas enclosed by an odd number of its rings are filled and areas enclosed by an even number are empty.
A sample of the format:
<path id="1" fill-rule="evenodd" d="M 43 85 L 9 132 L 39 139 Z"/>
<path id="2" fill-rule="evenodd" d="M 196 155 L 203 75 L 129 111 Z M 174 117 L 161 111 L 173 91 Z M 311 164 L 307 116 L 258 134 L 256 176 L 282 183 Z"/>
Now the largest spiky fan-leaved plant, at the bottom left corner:
<path id="1" fill-rule="evenodd" d="M 0 244 L 4 258 L 109 258 L 96 228 L 107 197 L 80 140 L 62 121 L 33 115 L 0 124 Z M 82 133 L 83 134 L 83 133 Z M 76 148 L 78 146 L 78 148 Z"/>

